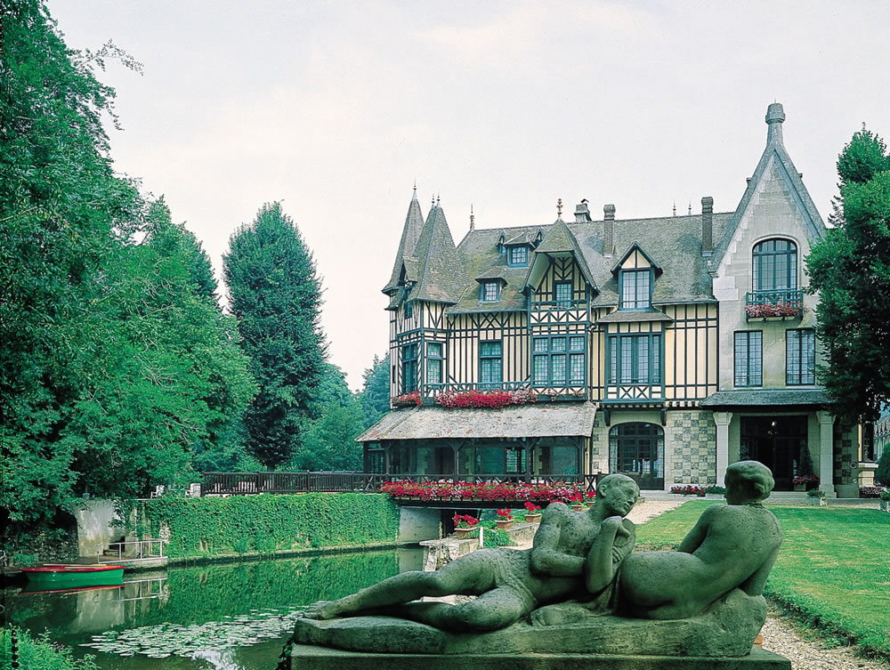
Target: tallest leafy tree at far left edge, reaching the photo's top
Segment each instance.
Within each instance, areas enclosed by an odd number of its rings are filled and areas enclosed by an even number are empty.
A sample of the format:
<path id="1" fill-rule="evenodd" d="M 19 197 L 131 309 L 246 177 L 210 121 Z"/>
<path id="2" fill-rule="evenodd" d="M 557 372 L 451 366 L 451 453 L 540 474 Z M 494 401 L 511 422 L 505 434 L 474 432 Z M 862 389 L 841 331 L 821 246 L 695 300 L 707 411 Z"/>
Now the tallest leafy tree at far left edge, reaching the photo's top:
<path id="1" fill-rule="evenodd" d="M 65 429 L 102 375 L 109 277 L 142 201 L 102 127 L 114 92 L 93 70 L 111 47 L 67 50 L 37 0 L 0 21 L 0 507 L 32 528 L 77 492 Z"/>

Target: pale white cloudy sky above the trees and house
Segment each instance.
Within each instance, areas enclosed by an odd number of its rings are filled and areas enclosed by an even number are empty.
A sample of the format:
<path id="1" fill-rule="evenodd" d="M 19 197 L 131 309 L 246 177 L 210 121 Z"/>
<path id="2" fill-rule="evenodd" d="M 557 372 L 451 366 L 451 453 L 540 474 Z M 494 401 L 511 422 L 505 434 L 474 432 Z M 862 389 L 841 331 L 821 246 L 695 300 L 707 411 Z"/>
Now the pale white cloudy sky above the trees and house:
<path id="1" fill-rule="evenodd" d="M 220 275 L 240 223 L 283 200 L 325 287 L 353 389 L 387 347 L 380 293 L 417 179 L 455 241 L 479 228 L 735 209 L 770 102 L 822 217 L 837 153 L 890 139 L 890 3 L 50 0 L 72 48 L 109 38 L 117 169 L 164 194 Z"/>

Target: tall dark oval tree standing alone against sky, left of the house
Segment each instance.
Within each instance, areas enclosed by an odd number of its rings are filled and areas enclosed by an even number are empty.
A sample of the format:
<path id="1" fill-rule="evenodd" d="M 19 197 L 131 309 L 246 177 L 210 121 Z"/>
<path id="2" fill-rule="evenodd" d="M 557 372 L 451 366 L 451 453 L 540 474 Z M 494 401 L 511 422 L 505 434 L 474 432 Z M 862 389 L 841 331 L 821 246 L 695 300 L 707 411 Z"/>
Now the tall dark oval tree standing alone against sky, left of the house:
<path id="1" fill-rule="evenodd" d="M 326 351 L 315 262 L 279 203 L 231 236 L 223 278 L 259 385 L 244 416 L 247 448 L 272 469 L 295 456 L 318 416 Z"/>

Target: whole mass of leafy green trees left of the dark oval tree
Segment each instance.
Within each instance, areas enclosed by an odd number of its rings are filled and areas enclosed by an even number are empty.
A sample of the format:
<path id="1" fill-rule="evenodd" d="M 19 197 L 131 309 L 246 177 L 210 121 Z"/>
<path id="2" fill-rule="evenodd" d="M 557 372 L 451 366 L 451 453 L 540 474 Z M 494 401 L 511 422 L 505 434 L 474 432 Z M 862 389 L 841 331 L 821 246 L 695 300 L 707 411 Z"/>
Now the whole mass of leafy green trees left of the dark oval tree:
<path id="1" fill-rule="evenodd" d="M 0 507 L 14 535 L 85 490 L 190 478 L 193 451 L 231 434 L 255 389 L 197 241 L 111 168 L 114 92 L 94 69 L 133 61 L 112 44 L 69 51 L 37 0 L 0 19 Z"/>

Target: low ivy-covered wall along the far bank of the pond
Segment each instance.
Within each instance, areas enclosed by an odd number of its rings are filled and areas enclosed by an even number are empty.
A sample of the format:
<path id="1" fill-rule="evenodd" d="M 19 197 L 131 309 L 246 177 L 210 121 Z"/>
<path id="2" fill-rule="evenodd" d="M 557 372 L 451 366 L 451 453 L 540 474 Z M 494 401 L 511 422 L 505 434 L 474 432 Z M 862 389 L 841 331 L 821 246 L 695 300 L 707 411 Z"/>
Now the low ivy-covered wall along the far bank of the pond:
<path id="1" fill-rule="evenodd" d="M 398 507 L 382 494 L 162 497 L 142 505 L 137 533 L 169 534 L 171 558 L 395 542 L 399 534 Z"/>

